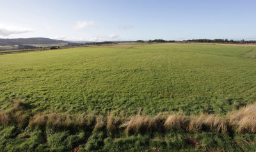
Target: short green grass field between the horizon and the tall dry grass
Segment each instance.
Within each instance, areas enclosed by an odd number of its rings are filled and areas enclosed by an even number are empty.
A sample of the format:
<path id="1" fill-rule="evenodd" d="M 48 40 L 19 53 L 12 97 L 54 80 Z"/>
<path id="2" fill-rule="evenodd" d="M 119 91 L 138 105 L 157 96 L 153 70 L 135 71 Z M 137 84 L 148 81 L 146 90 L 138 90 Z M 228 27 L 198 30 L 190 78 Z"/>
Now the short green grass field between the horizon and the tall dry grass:
<path id="1" fill-rule="evenodd" d="M 0 55 L 0 104 L 21 99 L 33 113 L 225 114 L 256 99 L 256 60 L 243 57 L 252 49 L 158 44 Z"/>

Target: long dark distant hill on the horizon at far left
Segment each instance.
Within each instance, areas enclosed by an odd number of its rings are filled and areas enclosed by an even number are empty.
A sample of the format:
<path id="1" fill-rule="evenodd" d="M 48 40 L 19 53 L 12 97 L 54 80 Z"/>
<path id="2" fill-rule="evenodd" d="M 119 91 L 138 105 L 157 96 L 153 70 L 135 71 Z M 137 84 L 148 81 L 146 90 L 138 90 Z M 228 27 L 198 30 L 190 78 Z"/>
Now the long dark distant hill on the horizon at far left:
<path id="1" fill-rule="evenodd" d="M 49 39 L 49 38 L 19 38 L 19 39 L 0 39 L 0 45 L 51 45 L 58 43 L 68 43 L 68 41 Z"/>

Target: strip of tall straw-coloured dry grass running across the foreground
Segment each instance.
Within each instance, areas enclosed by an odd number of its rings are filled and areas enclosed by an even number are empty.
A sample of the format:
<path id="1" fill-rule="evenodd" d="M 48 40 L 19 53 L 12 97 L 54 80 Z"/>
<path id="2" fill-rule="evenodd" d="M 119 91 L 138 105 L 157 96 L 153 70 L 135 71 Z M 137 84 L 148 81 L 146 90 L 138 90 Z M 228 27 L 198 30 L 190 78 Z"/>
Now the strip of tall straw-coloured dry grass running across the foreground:
<path id="1" fill-rule="evenodd" d="M 93 132 L 108 130 L 118 132 L 124 130 L 126 134 L 144 132 L 168 132 L 169 130 L 183 130 L 186 132 L 200 132 L 202 130 L 227 132 L 228 129 L 239 133 L 256 132 L 256 104 L 250 104 L 236 111 L 230 111 L 226 118 L 216 114 L 185 115 L 183 113 L 157 114 L 150 117 L 141 114 L 141 110 L 134 116 L 123 116 L 118 113 L 108 113 L 107 117 L 88 114 L 36 114 L 31 116 L 26 111 L 26 105 L 20 101 L 13 102 L 12 110 L 0 111 L 0 125 L 15 123 L 22 127 L 47 127 L 51 130 L 62 129 L 91 129 Z M 28 121 L 29 120 L 29 121 Z M 26 123 L 28 121 L 28 123 Z"/>

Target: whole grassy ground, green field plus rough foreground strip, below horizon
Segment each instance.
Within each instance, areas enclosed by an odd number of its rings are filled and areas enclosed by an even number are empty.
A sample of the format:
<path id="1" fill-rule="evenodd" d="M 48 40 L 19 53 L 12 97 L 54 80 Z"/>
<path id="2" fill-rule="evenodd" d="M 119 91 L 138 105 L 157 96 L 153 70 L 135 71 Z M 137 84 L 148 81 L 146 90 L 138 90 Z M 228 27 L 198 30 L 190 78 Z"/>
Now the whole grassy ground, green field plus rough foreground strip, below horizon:
<path id="1" fill-rule="evenodd" d="M 0 55 L 0 149 L 253 151 L 256 106 L 236 109 L 255 102 L 255 54 L 163 43 Z"/>

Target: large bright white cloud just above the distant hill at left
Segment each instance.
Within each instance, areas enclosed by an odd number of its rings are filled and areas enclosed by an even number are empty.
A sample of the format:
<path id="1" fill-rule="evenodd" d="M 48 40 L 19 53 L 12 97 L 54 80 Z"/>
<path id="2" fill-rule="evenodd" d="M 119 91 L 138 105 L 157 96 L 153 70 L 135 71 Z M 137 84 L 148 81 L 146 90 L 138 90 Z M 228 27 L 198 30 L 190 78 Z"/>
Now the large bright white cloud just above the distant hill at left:
<path id="1" fill-rule="evenodd" d="M 0 35 L 10 36 L 11 34 L 22 34 L 32 32 L 33 30 L 26 27 L 17 27 L 11 24 L 0 24 Z"/>

